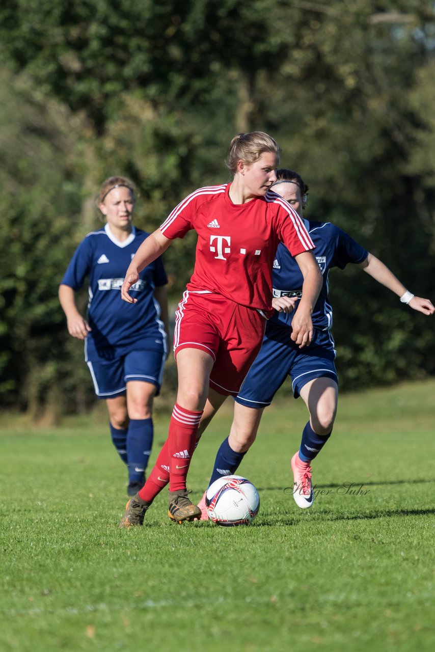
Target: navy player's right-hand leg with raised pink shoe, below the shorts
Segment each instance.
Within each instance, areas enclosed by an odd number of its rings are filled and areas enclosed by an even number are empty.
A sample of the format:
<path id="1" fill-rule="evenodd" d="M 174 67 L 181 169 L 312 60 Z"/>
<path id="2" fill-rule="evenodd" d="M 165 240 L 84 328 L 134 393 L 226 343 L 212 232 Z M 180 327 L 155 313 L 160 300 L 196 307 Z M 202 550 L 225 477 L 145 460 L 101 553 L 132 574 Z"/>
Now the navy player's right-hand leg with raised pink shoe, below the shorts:
<path id="1" fill-rule="evenodd" d="M 338 385 L 331 377 L 314 378 L 299 389 L 310 419 L 303 429 L 301 446 L 292 457 L 293 497 L 301 509 L 311 507 L 311 463 L 331 436 L 337 413 Z"/>

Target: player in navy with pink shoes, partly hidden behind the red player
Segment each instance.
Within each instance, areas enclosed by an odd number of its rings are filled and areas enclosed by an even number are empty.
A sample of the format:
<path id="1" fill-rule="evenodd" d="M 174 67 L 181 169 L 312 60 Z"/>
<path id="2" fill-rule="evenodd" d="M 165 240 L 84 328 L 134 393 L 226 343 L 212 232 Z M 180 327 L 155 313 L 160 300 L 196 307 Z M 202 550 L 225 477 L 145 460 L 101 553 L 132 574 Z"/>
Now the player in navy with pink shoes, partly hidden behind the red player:
<path id="1" fill-rule="evenodd" d="M 277 181 L 272 189 L 303 216 L 308 186 L 299 174 L 292 170 L 277 170 Z M 311 507 L 314 501 L 311 462 L 331 436 L 337 412 L 337 371 L 334 364 L 334 340 L 330 330 L 332 308 L 327 297 L 329 269 L 344 269 L 348 263 L 354 263 L 394 292 L 402 303 L 408 304 L 413 310 L 425 315 L 435 311 L 428 299 L 410 293 L 382 261 L 337 226 L 329 222 L 304 222 L 316 245 L 314 255 L 323 275 L 323 287 L 312 313 L 312 342 L 309 348 L 300 349 L 290 339 L 294 308 L 297 308 L 301 297 L 303 278 L 286 247 L 279 244 L 273 263 L 273 295 L 275 308 L 279 312 L 275 312 L 267 322 L 262 349 L 235 399 L 230 436 L 220 446 L 209 482 L 211 484 L 222 475 L 235 473 L 245 452 L 254 443 L 263 410 L 271 404 L 278 388 L 290 376 L 293 395 L 295 398 L 303 398 L 310 415 L 303 430 L 299 451 L 295 452 L 291 462 L 293 497 L 302 509 Z M 204 413 L 200 434 L 211 416 L 213 415 Z M 199 507 L 202 509 L 202 518 L 207 518 L 205 494 Z"/>

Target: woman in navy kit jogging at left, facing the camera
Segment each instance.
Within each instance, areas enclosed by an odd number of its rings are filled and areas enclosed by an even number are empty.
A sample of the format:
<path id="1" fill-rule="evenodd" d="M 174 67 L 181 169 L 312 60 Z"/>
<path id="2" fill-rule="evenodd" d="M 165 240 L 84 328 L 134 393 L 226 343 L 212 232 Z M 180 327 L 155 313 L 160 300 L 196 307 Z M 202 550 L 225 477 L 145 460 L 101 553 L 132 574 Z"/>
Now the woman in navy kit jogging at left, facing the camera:
<path id="1" fill-rule="evenodd" d="M 137 303 L 121 300 L 124 273 L 149 233 L 132 225 L 134 186 L 125 177 L 102 183 L 98 207 L 106 225 L 88 233 L 59 287 L 68 332 L 85 342 L 95 393 L 106 400 L 113 445 L 128 466 L 127 494 L 145 481 L 153 443 L 153 398 L 160 391 L 167 356 L 168 279 L 160 258 L 145 267 L 132 288 Z M 88 278 L 87 318 L 75 293 Z"/>

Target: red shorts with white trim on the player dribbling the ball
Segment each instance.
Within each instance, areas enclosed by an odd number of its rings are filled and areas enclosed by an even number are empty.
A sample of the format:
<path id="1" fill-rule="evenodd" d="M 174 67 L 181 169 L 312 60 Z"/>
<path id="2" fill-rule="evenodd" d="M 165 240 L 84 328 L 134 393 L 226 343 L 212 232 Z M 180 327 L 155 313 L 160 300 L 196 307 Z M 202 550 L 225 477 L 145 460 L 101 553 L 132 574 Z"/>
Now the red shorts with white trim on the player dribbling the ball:
<path id="1" fill-rule="evenodd" d="M 186 290 L 178 304 L 173 334 L 175 359 L 181 349 L 202 349 L 215 364 L 210 387 L 237 396 L 262 346 L 266 319 L 220 294 Z"/>

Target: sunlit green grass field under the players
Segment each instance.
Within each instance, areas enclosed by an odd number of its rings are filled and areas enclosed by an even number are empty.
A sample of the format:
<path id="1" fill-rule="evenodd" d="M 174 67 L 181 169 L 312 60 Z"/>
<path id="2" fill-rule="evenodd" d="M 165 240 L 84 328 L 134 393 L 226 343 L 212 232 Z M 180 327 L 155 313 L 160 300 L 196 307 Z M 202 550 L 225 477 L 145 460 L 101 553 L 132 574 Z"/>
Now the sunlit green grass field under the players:
<path id="1" fill-rule="evenodd" d="M 196 452 L 195 499 L 231 411 Z M 306 511 L 286 491 L 305 406 L 280 397 L 239 469 L 261 497 L 250 527 L 171 524 L 164 492 L 119 529 L 127 473 L 99 414 L 3 420 L 1 652 L 435 649 L 435 381 L 340 398 Z"/>

